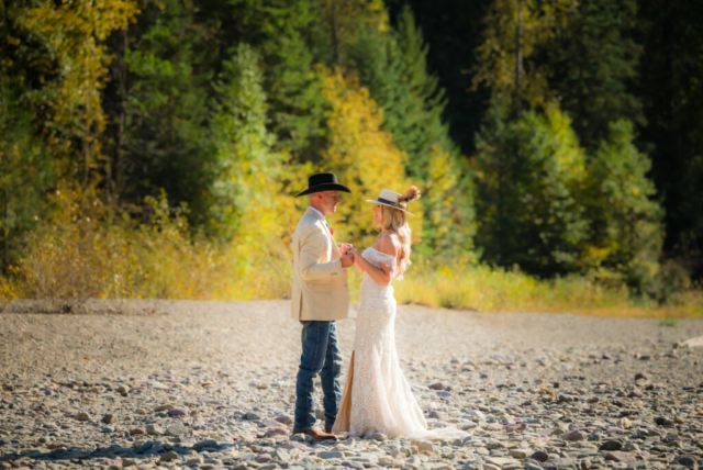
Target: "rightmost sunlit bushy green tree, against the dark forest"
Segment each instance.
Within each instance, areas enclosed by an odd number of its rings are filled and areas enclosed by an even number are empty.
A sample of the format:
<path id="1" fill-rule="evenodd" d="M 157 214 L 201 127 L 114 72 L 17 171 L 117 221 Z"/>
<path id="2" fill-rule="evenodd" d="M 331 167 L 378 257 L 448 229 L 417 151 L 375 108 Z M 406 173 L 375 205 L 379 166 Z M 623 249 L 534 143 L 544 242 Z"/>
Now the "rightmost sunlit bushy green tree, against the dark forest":
<path id="1" fill-rule="evenodd" d="M 607 268 L 631 287 L 654 294 L 663 213 L 647 178 L 651 163 L 633 141 L 631 122 L 611 124 L 607 139 L 589 165 L 583 201 L 591 233 L 582 262 Z"/>

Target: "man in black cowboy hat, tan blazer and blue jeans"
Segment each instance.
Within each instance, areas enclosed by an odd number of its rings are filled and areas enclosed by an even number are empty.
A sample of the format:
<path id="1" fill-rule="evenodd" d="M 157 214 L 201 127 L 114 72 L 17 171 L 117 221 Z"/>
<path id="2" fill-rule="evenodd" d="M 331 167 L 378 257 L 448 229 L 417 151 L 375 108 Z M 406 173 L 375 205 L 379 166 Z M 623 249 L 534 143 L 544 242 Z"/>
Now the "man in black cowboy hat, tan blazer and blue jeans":
<path id="1" fill-rule="evenodd" d="M 309 195 L 310 206 L 300 217 L 293 234 L 291 316 L 303 325 L 293 434 L 302 433 L 314 440 L 336 439 L 332 426 L 342 401 L 342 354 L 335 321 L 345 318 L 349 310 L 345 269 L 354 265 L 354 255 L 339 253 L 326 222 L 326 216 L 337 210 L 339 191 L 352 192 L 337 183 L 334 174 L 311 176 L 308 189 L 298 194 Z M 324 432 L 313 427 L 313 391 L 317 373 L 324 393 Z"/>

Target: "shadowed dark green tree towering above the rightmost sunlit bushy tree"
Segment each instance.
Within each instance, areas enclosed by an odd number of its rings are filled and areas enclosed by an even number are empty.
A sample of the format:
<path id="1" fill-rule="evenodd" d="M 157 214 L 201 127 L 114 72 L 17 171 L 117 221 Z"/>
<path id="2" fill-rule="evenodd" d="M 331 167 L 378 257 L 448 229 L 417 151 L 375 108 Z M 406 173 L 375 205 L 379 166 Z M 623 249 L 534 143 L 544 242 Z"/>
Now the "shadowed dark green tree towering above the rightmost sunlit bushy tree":
<path id="1" fill-rule="evenodd" d="M 589 150 L 607 137 L 610 122 L 644 123 L 641 100 L 631 88 L 643 51 L 634 38 L 636 21 L 635 0 L 587 0 L 545 47 L 553 70 L 550 88 Z"/>

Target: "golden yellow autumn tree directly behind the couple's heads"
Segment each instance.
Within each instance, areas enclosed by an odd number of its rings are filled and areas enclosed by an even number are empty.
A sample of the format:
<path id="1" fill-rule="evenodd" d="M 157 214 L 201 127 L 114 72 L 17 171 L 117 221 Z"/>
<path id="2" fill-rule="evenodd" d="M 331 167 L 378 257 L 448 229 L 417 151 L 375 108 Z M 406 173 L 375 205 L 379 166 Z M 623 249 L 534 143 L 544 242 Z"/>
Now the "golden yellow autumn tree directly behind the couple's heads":
<path id="1" fill-rule="evenodd" d="M 352 191 L 342 194 L 338 215 L 330 217 L 330 223 L 334 224 L 336 239 L 368 247 L 377 234 L 373 204 L 365 201 L 375 200 L 382 189 L 402 193 L 410 187 L 403 167 L 405 155 L 395 146 L 392 134 L 381 130 L 382 110 L 357 79 L 344 77 L 339 70 L 323 74 L 323 92 L 332 111 L 327 116 L 328 146 L 319 169 L 336 174 Z M 410 225 L 417 243 L 422 205 L 411 203 L 409 210 L 415 215 L 410 217 Z"/>

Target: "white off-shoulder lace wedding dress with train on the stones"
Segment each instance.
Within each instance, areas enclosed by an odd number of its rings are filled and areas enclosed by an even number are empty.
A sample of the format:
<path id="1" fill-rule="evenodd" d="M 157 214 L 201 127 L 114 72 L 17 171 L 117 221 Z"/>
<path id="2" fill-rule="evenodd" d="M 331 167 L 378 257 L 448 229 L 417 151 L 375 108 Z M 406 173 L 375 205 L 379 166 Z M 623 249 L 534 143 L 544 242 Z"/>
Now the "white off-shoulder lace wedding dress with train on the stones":
<path id="1" fill-rule="evenodd" d="M 364 258 L 380 268 L 392 269 L 394 256 L 375 248 Z M 354 437 L 382 433 L 390 438 L 455 439 L 470 434 L 455 427 L 427 429 L 427 422 L 400 368 L 395 350 L 395 298 L 391 284 L 380 286 L 367 272 L 360 289 L 354 351 L 333 432 Z"/>

